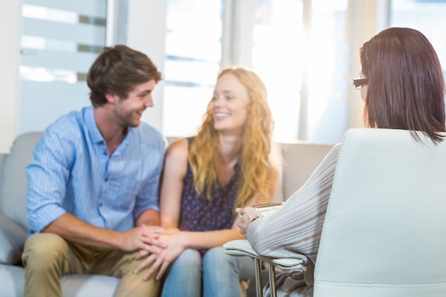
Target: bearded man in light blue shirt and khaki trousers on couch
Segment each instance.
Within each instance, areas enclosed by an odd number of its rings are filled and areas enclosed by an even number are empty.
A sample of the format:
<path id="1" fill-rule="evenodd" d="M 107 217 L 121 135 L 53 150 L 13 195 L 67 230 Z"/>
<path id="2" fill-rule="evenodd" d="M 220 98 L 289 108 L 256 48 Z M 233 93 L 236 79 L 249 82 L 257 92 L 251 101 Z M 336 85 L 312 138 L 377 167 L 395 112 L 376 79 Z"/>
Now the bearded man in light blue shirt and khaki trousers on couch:
<path id="1" fill-rule="evenodd" d="M 48 126 L 28 167 L 25 296 L 62 296 L 61 277 L 121 278 L 115 296 L 157 296 L 135 273 L 135 254 L 156 252 L 165 139 L 141 123 L 162 79 L 145 54 L 104 48 L 88 72 L 92 106 Z"/>

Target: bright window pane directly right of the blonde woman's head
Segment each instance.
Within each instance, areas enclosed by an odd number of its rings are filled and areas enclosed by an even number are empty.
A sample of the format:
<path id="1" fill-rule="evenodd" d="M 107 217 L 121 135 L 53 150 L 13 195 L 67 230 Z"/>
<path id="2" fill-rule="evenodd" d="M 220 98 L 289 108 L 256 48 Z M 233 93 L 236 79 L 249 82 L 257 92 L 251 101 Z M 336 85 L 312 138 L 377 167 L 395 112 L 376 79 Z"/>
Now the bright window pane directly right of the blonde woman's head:
<path id="1" fill-rule="evenodd" d="M 256 0 L 251 66 L 268 90 L 274 139 L 299 135 L 305 36 L 303 2 Z"/>

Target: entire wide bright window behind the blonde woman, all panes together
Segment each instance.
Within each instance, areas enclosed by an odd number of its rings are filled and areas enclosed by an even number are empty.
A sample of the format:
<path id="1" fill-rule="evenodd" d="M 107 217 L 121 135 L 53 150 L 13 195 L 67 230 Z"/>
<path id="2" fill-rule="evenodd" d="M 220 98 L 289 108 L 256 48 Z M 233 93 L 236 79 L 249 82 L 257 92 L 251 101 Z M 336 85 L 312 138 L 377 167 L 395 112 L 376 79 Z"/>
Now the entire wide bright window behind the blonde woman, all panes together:
<path id="1" fill-rule="evenodd" d="M 168 0 L 162 132 L 195 134 L 219 70 L 232 63 L 264 80 L 275 140 L 340 141 L 350 87 L 347 2 Z"/>

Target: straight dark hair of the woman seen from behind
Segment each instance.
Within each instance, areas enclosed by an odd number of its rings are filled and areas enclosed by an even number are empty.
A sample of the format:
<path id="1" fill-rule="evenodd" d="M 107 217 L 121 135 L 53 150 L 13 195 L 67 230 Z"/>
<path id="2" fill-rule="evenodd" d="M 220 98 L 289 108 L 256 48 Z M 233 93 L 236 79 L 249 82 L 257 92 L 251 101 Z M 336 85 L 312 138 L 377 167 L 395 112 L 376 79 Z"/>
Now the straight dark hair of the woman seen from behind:
<path id="1" fill-rule="evenodd" d="M 412 28 L 388 28 L 360 49 L 368 78 L 364 119 L 370 127 L 422 131 L 434 142 L 445 131 L 445 80 L 432 44 Z M 413 136 L 420 140 L 414 132 Z"/>

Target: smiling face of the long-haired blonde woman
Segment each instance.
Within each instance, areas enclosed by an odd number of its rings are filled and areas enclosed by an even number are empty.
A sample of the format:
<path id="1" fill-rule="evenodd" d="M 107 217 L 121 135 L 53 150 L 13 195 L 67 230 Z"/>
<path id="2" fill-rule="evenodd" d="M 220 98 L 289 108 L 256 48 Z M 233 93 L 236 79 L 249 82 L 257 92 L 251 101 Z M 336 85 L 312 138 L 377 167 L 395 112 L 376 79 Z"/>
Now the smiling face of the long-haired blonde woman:
<path id="1" fill-rule="evenodd" d="M 219 77 L 211 109 L 214 128 L 219 132 L 242 132 L 247 121 L 249 95 L 247 88 L 230 73 Z"/>

